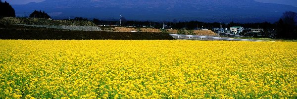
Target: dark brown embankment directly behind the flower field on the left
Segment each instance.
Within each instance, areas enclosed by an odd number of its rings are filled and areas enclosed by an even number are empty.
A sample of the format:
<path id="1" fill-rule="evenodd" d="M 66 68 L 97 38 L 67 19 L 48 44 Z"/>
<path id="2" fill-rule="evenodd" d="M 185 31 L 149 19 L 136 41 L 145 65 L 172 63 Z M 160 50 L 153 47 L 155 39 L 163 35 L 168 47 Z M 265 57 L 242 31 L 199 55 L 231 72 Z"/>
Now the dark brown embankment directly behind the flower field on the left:
<path id="1" fill-rule="evenodd" d="M 168 33 L 74 31 L 7 24 L 0 27 L 0 39 L 13 40 L 175 40 Z"/>

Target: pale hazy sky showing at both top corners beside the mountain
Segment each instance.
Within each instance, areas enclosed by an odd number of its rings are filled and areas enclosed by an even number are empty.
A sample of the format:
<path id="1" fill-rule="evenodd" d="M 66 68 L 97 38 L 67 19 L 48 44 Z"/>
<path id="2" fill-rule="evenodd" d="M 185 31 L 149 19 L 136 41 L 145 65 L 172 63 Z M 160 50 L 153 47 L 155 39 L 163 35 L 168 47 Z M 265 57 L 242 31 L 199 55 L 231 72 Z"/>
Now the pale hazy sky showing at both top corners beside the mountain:
<path id="1" fill-rule="evenodd" d="M 5 1 L 5 0 L 2 0 Z M 6 0 L 10 4 L 26 4 L 29 2 L 41 2 L 44 0 Z M 278 4 L 287 4 L 287 5 L 293 5 L 297 7 L 297 0 L 255 0 L 259 2 L 265 2 L 265 3 L 278 3 Z"/>

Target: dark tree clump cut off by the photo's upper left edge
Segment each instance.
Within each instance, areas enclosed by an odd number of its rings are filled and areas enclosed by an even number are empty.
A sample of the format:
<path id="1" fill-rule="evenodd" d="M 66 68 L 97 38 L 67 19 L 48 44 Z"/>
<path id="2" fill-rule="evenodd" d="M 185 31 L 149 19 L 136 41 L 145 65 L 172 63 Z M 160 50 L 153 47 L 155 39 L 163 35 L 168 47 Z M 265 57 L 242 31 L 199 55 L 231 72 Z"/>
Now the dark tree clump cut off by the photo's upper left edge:
<path id="1" fill-rule="evenodd" d="M 8 2 L 0 0 L 0 17 L 15 17 L 15 11 Z"/>

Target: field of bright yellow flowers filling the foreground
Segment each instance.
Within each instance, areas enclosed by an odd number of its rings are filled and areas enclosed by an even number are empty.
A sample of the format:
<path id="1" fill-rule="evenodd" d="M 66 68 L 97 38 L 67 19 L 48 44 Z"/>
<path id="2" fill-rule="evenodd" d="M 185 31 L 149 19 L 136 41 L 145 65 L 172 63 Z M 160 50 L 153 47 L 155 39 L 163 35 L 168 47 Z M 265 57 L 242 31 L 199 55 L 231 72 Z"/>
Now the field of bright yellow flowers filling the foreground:
<path id="1" fill-rule="evenodd" d="M 0 99 L 297 98 L 297 42 L 0 40 Z"/>

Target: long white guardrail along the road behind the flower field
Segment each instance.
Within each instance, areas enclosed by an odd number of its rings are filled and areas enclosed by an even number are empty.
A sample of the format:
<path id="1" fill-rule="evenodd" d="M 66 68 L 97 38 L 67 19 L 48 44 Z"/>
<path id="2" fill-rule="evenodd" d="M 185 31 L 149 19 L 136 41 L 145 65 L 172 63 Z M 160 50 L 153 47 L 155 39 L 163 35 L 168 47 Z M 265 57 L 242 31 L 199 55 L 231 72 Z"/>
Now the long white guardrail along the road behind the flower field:
<path id="1" fill-rule="evenodd" d="M 194 35 L 179 35 L 179 34 L 169 34 L 175 39 L 186 39 L 186 40 L 220 40 L 220 41 L 252 41 L 252 42 L 267 42 L 264 40 L 251 40 L 251 39 L 233 39 L 233 38 L 221 38 L 221 37 L 208 37 L 208 36 L 194 36 Z"/>

